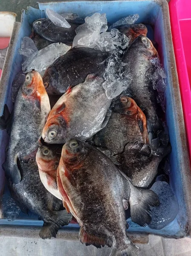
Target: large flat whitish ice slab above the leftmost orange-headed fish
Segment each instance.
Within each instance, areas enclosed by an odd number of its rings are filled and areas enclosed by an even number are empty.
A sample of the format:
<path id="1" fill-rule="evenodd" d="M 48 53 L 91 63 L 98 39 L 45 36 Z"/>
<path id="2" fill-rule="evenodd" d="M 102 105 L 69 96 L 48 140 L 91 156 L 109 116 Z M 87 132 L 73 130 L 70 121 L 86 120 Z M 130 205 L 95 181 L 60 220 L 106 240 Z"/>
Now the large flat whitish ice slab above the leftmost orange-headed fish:
<path id="1" fill-rule="evenodd" d="M 43 76 L 44 71 L 49 67 L 57 58 L 64 55 L 71 47 L 62 43 L 50 44 L 47 47 L 35 52 L 22 64 L 23 73 L 28 73 L 31 70 L 38 71 Z"/>

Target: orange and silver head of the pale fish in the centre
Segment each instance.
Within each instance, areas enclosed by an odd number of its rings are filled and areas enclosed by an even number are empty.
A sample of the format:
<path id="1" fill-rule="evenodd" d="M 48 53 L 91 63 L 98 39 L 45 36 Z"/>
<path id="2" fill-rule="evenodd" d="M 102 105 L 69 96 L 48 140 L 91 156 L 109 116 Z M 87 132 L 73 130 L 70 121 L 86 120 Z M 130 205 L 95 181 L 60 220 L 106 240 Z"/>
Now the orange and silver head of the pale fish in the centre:
<path id="1" fill-rule="evenodd" d="M 67 122 L 61 115 L 56 114 L 47 120 L 42 138 L 46 143 L 61 144 L 66 142 L 67 132 Z"/>

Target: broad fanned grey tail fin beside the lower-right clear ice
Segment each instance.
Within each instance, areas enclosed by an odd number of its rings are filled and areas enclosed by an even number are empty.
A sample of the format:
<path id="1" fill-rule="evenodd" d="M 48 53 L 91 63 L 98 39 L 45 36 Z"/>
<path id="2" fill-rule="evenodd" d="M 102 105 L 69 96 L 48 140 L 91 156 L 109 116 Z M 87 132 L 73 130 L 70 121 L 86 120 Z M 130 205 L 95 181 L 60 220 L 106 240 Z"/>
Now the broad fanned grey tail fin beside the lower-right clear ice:
<path id="1" fill-rule="evenodd" d="M 129 182 L 130 183 L 130 182 Z M 159 197 L 150 189 L 143 189 L 130 183 L 130 215 L 131 220 L 141 227 L 150 224 L 150 207 L 159 206 Z"/>

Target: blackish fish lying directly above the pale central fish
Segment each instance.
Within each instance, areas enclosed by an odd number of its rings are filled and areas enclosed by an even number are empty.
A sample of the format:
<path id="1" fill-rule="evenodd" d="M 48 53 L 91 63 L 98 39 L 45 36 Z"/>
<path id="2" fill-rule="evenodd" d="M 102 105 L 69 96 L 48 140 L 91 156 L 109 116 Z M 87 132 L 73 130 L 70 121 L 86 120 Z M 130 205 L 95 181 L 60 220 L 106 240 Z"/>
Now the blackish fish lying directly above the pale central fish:
<path id="1" fill-rule="evenodd" d="M 72 48 L 50 65 L 43 76 L 49 95 L 64 94 L 69 86 L 83 83 L 88 74 L 103 76 L 110 53 L 87 47 Z"/>

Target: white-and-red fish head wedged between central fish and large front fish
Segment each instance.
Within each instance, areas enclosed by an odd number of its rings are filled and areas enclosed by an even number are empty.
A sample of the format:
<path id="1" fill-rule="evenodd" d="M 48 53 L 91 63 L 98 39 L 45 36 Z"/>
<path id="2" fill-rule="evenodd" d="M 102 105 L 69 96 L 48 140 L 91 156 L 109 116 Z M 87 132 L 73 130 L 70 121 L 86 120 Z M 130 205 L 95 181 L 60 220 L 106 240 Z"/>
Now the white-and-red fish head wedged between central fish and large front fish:
<path id="1" fill-rule="evenodd" d="M 58 146 L 41 146 L 36 154 L 38 168 L 43 172 L 52 172 L 57 170 L 61 157 L 61 151 Z M 59 153 L 60 152 L 60 153 Z"/>

